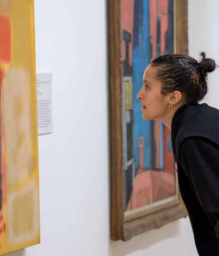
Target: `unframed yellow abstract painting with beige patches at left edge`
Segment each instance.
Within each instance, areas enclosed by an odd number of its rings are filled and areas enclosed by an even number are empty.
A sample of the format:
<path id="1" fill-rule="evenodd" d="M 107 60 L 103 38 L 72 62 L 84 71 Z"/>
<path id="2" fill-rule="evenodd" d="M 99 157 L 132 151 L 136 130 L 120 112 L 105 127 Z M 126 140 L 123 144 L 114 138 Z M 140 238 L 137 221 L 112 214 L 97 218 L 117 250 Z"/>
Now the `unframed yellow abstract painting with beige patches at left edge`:
<path id="1" fill-rule="evenodd" d="M 0 0 L 0 255 L 39 243 L 33 0 Z"/>

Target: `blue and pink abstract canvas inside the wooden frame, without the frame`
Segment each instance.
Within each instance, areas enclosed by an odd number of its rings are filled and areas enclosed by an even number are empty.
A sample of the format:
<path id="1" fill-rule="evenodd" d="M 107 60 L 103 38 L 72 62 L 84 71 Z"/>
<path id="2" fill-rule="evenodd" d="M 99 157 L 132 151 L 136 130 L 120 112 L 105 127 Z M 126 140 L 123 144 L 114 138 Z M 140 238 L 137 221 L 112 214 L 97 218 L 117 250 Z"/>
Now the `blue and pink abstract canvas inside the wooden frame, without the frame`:
<path id="1" fill-rule="evenodd" d="M 173 0 L 121 0 L 121 30 L 124 200 L 130 211 L 176 195 L 170 129 L 143 120 L 136 97 L 149 63 L 174 51 Z"/>

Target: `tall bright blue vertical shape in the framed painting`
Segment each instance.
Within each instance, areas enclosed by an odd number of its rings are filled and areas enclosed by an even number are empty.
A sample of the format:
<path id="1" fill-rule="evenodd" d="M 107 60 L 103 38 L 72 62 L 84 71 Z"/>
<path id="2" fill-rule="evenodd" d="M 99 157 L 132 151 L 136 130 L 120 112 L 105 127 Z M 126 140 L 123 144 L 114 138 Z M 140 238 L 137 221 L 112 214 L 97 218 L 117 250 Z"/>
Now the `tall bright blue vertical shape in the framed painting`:
<path id="1" fill-rule="evenodd" d="M 139 137 L 144 137 L 144 167 L 152 168 L 152 121 L 142 118 L 137 94 L 143 85 L 143 74 L 151 62 L 148 0 L 134 2 L 133 32 L 133 111 L 135 173 L 139 167 Z"/>

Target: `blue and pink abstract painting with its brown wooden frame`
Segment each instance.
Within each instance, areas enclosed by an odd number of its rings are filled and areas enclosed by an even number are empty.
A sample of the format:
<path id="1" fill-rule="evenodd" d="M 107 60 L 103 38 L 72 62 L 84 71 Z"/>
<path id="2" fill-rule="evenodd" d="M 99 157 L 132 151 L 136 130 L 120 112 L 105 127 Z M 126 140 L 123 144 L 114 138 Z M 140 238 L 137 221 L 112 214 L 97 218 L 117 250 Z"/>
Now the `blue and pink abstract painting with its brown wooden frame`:
<path id="1" fill-rule="evenodd" d="M 142 118 L 138 91 L 162 54 L 188 54 L 187 0 L 108 0 L 111 238 L 187 216 L 177 185 L 171 131 Z"/>

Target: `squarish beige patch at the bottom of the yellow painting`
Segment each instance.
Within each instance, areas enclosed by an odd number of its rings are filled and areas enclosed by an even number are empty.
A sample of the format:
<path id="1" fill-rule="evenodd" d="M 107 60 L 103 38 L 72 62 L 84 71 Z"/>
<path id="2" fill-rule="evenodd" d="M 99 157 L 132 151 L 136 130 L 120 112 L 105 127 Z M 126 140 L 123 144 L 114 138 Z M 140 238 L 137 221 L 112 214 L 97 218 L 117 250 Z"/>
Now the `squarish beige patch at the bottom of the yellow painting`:
<path id="1" fill-rule="evenodd" d="M 9 195 L 8 233 L 11 245 L 34 239 L 39 233 L 39 196 L 37 184 L 31 182 L 21 191 Z"/>

